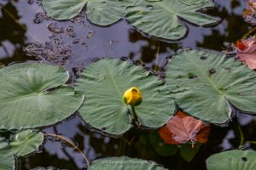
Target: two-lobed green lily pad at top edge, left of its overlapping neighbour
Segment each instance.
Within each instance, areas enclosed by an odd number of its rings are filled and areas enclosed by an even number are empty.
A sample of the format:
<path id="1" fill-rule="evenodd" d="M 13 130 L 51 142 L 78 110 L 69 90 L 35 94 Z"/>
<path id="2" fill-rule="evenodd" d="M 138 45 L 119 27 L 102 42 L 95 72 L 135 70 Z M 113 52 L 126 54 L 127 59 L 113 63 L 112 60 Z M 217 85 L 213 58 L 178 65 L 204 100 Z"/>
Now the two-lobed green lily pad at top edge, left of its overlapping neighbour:
<path id="1" fill-rule="evenodd" d="M 108 26 L 125 17 L 126 8 L 136 0 L 43 0 L 44 10 L 55 20 L 67 20 L 78 15 L 84 8 L 88 19 L 99 26 Z"/>

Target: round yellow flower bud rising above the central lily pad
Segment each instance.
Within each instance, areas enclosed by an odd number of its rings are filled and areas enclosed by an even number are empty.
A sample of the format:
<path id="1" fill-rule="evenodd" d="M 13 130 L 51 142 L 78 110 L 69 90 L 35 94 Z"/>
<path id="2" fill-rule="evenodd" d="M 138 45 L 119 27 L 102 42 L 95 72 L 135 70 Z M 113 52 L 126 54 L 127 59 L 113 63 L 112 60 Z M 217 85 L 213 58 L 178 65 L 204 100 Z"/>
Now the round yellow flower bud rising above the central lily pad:
<path id="1" fill-rule="evenodd" d="M 143 94 L 138 88 L 132 87 L 125 91 L 123 100 L 126 105 L 137 106 L 143 102 Z"/>

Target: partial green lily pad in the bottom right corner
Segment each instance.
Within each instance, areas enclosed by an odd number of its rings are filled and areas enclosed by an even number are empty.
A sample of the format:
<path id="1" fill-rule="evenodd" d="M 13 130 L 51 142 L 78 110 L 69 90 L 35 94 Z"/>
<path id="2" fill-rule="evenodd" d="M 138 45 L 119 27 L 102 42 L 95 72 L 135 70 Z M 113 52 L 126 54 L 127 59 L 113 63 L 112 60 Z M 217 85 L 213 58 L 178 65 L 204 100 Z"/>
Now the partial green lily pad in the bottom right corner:
<path id="1" fill-rule="evenodd" d="M 207 158 L 209 170 L 254 170 L 256 152 L 253 150 L 229 150 Z"/>

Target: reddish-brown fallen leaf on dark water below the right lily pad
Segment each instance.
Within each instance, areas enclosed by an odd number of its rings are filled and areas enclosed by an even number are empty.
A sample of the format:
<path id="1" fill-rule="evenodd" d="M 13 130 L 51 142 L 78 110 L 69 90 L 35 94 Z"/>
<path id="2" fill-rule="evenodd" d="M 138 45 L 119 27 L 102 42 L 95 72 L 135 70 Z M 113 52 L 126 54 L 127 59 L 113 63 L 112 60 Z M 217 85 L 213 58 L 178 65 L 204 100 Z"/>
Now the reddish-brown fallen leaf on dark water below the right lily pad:
<path id="1" fill-rule="evenodd" d="M 166 144 L 184 144 L 195 141 L 206 143 L 210 127 L 201 120 L 188 116 L 181 111 L 177 112 L 177 116 L 173 116 L 165 127 L 159 129 L 160 137 Z"/>

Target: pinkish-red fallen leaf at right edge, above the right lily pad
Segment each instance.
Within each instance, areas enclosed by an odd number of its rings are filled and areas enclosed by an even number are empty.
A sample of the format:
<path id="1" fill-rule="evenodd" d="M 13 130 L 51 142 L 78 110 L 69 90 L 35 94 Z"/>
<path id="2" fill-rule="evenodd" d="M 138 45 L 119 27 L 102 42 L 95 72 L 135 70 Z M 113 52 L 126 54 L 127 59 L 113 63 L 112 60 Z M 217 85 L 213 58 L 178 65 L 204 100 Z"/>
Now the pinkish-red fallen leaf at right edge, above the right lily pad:
<path id="1" fill-rule="evenodd" d="M 256 69 L 256 42 L 254 38 L 236 42 L 236 54 L 237 59 L 250 69 Z"/>

